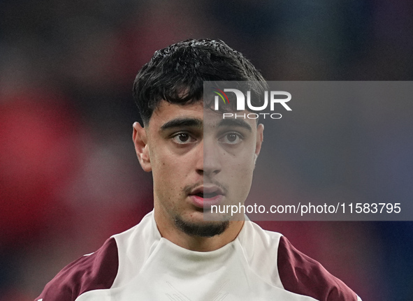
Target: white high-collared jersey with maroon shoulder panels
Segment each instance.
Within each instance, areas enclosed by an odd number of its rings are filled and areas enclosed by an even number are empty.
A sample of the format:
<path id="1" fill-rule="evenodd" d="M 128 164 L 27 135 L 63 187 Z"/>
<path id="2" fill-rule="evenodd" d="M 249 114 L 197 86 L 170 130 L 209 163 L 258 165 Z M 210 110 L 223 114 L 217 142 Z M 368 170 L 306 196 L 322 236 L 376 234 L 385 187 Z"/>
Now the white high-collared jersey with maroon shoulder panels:
<path id="1" fill-rule="evenodd" d="M 189 251 L 161 237 L 153 212 L 64 268 L 42 301 L 360 300 L 280 233 L 245 221 L 236 240 Z"/>

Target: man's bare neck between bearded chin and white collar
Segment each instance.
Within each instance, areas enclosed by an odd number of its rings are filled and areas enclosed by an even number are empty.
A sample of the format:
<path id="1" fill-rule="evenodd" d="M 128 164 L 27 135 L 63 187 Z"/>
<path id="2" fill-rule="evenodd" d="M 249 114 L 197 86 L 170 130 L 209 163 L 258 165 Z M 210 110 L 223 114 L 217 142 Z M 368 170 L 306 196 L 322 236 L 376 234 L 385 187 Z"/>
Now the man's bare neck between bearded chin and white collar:
<path id="1" fill-rule="evenodd" d="M 229 221 L 228 228 L 226 228 L 222 234 L 212 237 L 201 237 L 184 233 L 180 228 L 177 228 L 173 219 L 165 218 L 166 216 L 163 216 L 159 211 L 160 210 L 157 210 L 155 207 L 154 217 L 161 236 L 191 251 L 215 251 L 224 247 L 236 239 L 244 224 L 244 221 Z"/>

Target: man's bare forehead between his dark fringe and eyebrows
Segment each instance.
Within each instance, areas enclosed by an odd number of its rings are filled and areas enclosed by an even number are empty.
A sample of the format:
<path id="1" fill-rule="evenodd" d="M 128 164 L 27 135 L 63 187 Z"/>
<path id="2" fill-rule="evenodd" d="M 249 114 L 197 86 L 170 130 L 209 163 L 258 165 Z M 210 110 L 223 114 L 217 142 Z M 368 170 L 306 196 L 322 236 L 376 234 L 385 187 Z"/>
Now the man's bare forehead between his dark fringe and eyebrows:
<path id="1" fill-rule="evenodd" d="M 236 119 L 236 121 L 239 123 L 246 122 L 247 124 L 249 124 L 251 129 L 255 129 L 256 119 L 244 119 L 240 117 L 244 115 L 245 112 L 237 112 L 238 118 Z M 200 122 L 200 126 L 206 128 L 215 128 L 219 124 L 229 124 L 222 122 L 222 112 L 217 112 L 215 110 L 205 108 L 203 105 L 203 101 L 201 100 L 196 101 L 195 103 L 189 103 L 184 105 L 177 103 L 168 103 L 167 101 L 161 101 L 152 113 L 149 126 L 150 128 L 159 129 L 162 126 L 164 126 L 164 124 L 171 122 L 175 119 L 196 119 Z M 225 118 L 225 120 L 229 119 L 233 118 Z"/>

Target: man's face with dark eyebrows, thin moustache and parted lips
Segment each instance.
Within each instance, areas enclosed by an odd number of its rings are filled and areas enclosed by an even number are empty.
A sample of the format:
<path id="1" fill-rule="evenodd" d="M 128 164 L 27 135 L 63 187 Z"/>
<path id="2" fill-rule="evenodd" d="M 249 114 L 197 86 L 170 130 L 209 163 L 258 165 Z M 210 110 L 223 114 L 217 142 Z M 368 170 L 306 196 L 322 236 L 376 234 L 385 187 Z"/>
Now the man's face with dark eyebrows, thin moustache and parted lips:
<path id="1" fill-rule="evenodd" d="M 141 166 L 152 170 L 157 223 L 216 225 L 204 221 L 204 210 L 243 204 L 262 139 L 255 119 L 222 119 L 202 101 L 161 101 L 145 129 L 134 125 L 133 135 Z"/>

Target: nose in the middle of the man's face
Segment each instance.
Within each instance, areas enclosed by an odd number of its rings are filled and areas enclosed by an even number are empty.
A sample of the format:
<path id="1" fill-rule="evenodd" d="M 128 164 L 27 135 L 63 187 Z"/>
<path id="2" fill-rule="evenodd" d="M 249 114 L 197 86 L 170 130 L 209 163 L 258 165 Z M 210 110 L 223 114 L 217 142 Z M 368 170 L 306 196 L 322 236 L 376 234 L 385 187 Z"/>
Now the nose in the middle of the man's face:
<path id="1" fill-rule="evenodd" d="M 207 177 L 217 175 L 222 170 L 219 147 L 214 142 L 203 140 L 198 155 L 198 173 Z"/>

